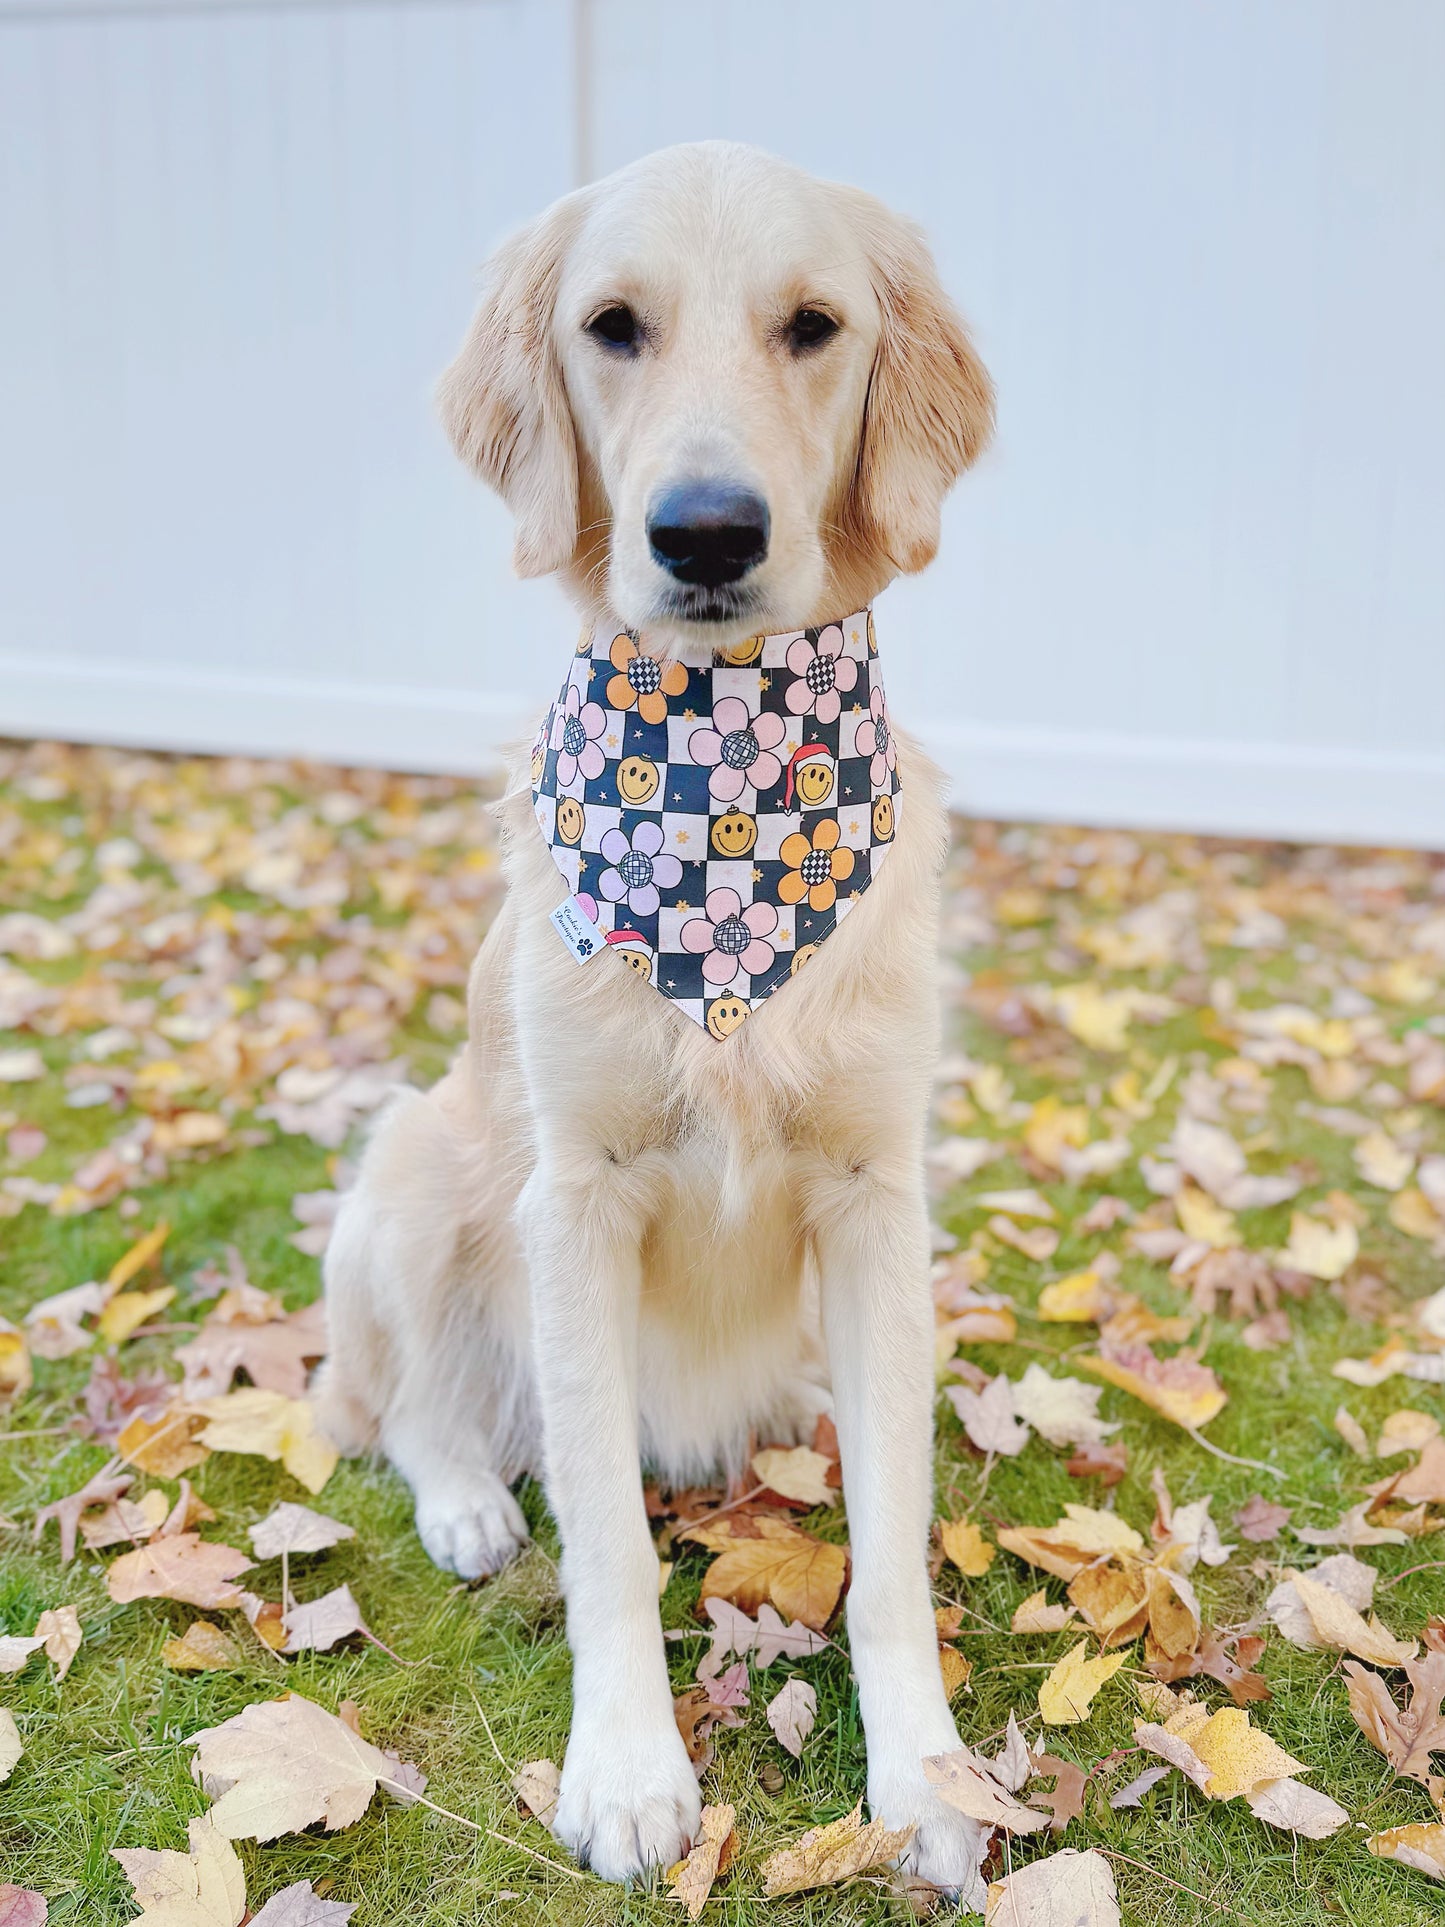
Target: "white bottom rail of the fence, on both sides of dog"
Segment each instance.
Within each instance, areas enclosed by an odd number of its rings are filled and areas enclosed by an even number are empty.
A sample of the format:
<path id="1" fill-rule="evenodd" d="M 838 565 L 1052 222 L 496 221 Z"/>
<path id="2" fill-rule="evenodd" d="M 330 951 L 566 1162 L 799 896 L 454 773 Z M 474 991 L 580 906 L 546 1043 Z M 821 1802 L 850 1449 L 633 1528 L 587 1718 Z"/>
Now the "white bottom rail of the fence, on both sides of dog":
<path id="1" fill-rule="evenodd" d="M 6 736 L 482 775 L 534 721 L 514 692 L 0 655 Z M 981 723 L 923 740 L 971 815 L 1445 850 L 1445 755 Z"/>

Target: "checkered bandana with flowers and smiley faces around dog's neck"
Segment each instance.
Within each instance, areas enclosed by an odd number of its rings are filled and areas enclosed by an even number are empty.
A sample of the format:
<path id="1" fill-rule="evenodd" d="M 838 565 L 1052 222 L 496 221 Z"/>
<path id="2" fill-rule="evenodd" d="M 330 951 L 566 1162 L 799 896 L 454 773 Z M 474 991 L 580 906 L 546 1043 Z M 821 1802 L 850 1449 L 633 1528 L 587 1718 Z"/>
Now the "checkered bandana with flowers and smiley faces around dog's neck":
<path id="1" fill-rule="evenodd" d="M 711 669 L 584 634 L 532 800 L 574 956 L 599 935 L 726 1037 L 832 935 L 898 829 L 873 617 L 751 636 Z"/>

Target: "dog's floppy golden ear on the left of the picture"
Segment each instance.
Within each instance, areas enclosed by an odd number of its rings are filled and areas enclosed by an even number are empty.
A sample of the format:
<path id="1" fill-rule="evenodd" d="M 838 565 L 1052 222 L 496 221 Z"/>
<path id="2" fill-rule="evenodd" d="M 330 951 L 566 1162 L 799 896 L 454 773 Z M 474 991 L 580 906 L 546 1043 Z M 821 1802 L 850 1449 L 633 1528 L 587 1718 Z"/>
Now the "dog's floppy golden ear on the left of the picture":
<path id="1" fill-rule="evenodd" d="M 516 516 L 518 576 L 563 568 L 578 540 L 576 436 L 551 333 L 576 212 L 563 200 L 497 249 L 466 341 L 437 385 L 453 447 Z"/>

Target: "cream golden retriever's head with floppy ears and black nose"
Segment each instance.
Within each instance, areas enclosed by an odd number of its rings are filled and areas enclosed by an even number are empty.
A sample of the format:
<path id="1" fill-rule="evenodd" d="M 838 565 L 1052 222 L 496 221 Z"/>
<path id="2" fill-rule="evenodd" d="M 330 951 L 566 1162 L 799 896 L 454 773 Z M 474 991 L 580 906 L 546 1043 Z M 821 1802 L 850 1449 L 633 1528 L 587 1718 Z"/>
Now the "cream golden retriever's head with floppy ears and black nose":
<path id="1" fill-rule="evenodd" d="M 911 224 L 701 143 L 497 252 L 441 410 L 520 574 L 717 646 L 923 568 L 992 385 Z"/>

